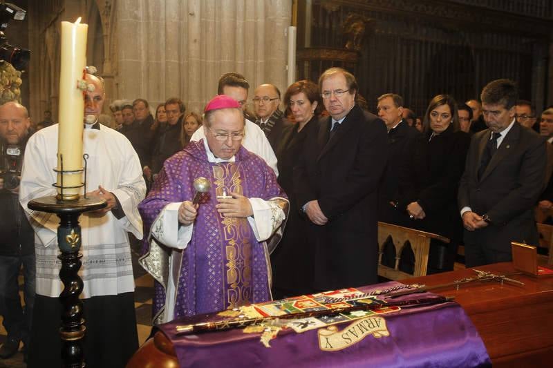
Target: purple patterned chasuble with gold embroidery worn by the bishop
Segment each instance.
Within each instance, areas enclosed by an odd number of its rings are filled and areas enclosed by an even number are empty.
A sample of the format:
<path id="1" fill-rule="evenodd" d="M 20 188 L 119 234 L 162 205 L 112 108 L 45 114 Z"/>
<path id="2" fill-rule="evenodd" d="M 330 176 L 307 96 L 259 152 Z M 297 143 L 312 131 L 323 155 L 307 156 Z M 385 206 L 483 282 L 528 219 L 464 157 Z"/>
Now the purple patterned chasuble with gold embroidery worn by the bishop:
<path id="1" fill-rule="evenodd" d="M 223 188 L 227 195 L 238 192 L 264 200 L 286 196 L 263 159 L 243 147 L 235 157 L 236 162 L 211 163 L 203 141 L 190 142 L 165 161 L 156 184 L 139 206 L 146 234 L 167 204 L 192 200 L 197 177 L 212 183 L 200 199 L 191 241 L 182 252 L 175 318 L 270 300 L 265 246 L 256 240 L 247 219 L 229 219 L 218 213 L 216 196 Z M 145 242 L 143 254 L 148 250 Z M 155 286 L 154 315 L 165 304 L 164 287 L 158 282 Z"/>

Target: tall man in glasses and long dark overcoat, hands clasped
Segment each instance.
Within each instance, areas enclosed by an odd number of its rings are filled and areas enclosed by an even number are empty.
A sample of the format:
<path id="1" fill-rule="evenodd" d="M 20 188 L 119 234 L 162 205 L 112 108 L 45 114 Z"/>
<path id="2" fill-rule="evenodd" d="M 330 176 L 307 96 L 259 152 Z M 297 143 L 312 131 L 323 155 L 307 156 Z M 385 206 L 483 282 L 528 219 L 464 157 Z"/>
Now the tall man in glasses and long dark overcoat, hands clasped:
<path id="1" fill-rule="evenodd" d="M 355 105 L 349 72 L 326 70 L 319 90 L 330 117 L 306 138 L 294 191 L 310 220 L 313 287 L 321 291 L 377 282 L 377 188 L 388 139 L 384 122 Z"/>

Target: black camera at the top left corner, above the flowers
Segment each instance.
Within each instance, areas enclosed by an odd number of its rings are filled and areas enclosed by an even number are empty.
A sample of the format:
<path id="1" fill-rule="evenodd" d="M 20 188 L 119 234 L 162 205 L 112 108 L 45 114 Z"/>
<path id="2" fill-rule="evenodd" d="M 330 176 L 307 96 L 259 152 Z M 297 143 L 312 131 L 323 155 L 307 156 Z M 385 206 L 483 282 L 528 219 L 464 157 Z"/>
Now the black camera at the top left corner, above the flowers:
<path id="1" fill-rule="evenodd" d="M 30 50 L 19 48 L 8 43 L 4 30 L 8 28 L 10 20 L 22 21 L 26 11 L 12 3 L 0 3 L 0 60 L 8 61 L 17 70 L 25 70 L 29 64 Z"/>

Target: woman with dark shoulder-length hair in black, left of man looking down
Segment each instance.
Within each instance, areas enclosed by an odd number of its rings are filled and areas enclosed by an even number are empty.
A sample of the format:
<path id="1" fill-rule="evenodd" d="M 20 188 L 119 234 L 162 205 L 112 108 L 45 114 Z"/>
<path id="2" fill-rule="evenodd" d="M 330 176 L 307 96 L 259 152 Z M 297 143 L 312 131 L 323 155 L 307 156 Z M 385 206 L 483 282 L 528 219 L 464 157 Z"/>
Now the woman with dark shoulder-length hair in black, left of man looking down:
<path id="1" fill-rule="evenodd" d="M 457 191 L 470 136 L 460 130 L 457 103 L 449 95 L 430 101 L 422 126 L 428 142 L 427 184 L 418 200 L 407 205 L 407 213 L 415 229 L 451 240 L 449 244 L 431 243 L 428 273 L 452 271 L 462 236 Z"/>

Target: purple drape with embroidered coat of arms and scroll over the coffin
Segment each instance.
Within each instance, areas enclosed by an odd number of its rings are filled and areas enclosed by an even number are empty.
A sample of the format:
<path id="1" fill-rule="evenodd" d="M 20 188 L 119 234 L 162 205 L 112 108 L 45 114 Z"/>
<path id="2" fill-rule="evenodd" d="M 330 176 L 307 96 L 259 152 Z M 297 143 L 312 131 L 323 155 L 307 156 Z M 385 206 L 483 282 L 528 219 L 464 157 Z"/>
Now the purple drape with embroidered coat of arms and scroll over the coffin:
<path id="1" fill-rule="evenodd" d="M 467 314 L 456 302 L 386 308 L 376 289 L 402 287 L 387 282 L 313 296 L 252 304 L 225 316 L 180 318 L 159 328 L 171 340 L 180 367 L 489 367 L 484 343 Z M 399 300 L 431 298 L 431 293 L 399 296 Z M 345 304 L 344 304 L 345 303 Z M 177 327 L 195 322 L 274 316 L 317 311 L 346 304 L 374 303 L 371 311 L 326 317 L 282 320 L 274 326 L 177 335 Z M 259 332 L 259 330 L 263 330 Z"/>

